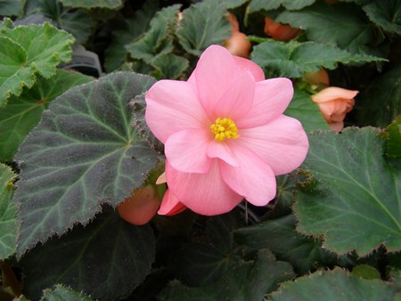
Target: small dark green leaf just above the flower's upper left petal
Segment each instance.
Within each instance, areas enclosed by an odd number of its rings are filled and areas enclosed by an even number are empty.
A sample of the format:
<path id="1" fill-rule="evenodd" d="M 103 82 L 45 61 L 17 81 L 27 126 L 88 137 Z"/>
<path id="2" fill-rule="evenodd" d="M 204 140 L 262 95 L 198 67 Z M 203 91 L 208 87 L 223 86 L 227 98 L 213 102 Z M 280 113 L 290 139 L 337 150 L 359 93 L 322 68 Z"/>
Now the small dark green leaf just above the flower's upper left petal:
<path id="1" fill-rule="evenodd" d="M 156 69 L 154 77 L 177 79 L 183 76 L 189 67 L 189 61 L 176 54 L 163 54 L 158 56 L 151 65 Z"/>

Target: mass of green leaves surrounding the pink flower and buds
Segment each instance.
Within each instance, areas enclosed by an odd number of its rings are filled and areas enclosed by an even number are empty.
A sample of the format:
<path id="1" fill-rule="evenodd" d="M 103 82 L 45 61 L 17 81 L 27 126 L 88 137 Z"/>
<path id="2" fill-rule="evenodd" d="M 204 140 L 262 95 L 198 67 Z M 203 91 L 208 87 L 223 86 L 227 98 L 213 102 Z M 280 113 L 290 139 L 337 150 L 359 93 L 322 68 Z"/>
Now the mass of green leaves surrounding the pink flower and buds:
<path id="1" fill-rule="evenodd" d="M 143 93 L 225 45 L 229 12 L 266 77 L 292 79 L 307 159 L 266 207 L 128 224 L 116 207 L 163 161 Z M 1 299 L 399 298 L 400 0 L 3 0 L 0 15 Z M 265 17 L 302 31 L 266 37 Z M 322 68 L 360 92 L 340 134 L 304 81 Z"/>

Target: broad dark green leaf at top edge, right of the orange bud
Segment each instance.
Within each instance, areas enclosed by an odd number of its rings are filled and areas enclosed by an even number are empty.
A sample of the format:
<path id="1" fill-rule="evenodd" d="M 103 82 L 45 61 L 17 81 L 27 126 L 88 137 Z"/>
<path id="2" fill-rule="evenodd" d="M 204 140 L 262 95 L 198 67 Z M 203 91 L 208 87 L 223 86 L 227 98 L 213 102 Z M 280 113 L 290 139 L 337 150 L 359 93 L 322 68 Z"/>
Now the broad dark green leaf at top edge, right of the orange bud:
<path id="1" fill-rule="evenodd" d="M 354 4 L 327 5 L 323 1 L 300 11 L 284 11 L 275 19 L 302 28 L 309 40 L 338 45 L 350 53 L 372 54 L 374 35 L 364 12 Z"/>

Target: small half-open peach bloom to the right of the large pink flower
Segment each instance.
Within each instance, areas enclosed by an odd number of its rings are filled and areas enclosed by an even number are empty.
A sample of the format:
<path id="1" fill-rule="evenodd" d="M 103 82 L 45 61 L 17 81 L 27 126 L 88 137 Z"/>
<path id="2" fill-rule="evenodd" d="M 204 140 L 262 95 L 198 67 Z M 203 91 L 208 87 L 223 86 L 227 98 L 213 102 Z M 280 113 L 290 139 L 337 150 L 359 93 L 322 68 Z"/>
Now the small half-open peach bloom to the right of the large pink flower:
<path id="1" fill-rule="evenodd" d="M 336 86 L 324 88 L 319 93 L 312 95 L 312 101 L 316 102 L 328 125 L 337 132 L 344 127 L 344 118 L 355 105 L 354 97 L 359 92 L 347 90 Z"/>

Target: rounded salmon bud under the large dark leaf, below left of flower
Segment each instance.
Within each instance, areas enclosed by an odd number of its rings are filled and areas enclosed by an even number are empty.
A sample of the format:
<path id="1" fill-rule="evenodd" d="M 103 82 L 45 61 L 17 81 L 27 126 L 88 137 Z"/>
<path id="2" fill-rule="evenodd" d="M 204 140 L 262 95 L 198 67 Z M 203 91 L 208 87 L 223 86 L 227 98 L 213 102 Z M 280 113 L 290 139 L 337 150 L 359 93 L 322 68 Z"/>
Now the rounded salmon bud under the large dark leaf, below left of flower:
<path id="1" fill-rule="evenodd" d="M 148 223 L 160 207 L 156 188 L 145 185 L 136 189 L 129 199 L 119 205 L 119 216 L 130 224 L 142 225 Z"/>

